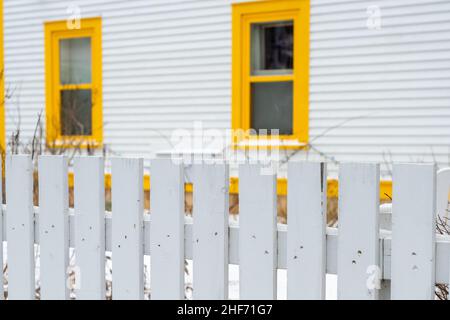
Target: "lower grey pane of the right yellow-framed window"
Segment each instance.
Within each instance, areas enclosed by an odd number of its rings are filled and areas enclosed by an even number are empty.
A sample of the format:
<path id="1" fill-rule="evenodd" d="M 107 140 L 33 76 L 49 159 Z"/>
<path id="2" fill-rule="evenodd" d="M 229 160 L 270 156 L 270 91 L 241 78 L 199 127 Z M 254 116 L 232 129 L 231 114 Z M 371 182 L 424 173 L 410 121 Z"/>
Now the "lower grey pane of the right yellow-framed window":
<path id="1" fill-rule="evenodd" d="M 293 133 L 292 82 L 252 83 L 252 128 Z"/>

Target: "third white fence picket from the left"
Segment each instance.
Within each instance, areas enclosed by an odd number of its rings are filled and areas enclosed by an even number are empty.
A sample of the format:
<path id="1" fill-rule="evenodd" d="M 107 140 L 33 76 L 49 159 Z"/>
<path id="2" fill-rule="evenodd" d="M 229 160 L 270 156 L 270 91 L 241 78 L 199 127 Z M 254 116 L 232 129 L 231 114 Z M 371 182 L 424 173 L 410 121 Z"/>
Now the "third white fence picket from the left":
<path id="1" fill-rule="evenodd" d="M 77 299 L 105 299 L 105 182 L 103 159 L 75 159 Z"/>

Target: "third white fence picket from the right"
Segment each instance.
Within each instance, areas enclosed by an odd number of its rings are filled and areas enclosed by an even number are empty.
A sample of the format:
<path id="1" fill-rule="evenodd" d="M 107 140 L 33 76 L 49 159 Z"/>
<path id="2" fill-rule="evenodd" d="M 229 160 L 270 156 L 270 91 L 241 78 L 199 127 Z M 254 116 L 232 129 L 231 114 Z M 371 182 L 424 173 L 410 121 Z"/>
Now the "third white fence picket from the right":
<path id="1" fill-rule="evenodd" d="M 327 172 L 324 163 L 288 166 L 288 299 L 324 299 Z"/>

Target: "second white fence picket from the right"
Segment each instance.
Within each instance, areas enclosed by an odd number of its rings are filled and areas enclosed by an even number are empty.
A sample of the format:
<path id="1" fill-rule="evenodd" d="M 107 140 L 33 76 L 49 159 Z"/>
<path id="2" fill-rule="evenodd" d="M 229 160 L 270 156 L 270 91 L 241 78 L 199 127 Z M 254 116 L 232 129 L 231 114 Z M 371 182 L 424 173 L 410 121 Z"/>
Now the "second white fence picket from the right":
<path id="1" fill-rule="evenodd" d="M 339 167 L 338 299 L 378 299 L 380 167 Z"/>

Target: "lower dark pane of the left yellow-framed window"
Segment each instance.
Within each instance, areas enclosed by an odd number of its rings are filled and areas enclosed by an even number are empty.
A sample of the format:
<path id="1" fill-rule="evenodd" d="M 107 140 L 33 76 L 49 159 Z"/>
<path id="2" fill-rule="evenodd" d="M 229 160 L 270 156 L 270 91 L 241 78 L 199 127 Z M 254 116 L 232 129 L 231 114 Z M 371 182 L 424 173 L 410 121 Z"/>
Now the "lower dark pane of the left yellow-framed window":
<path id="1" fill-rule="evenodd" d="M 92 135 L 92 91 L 61 91 L 61 135 Z"/>

